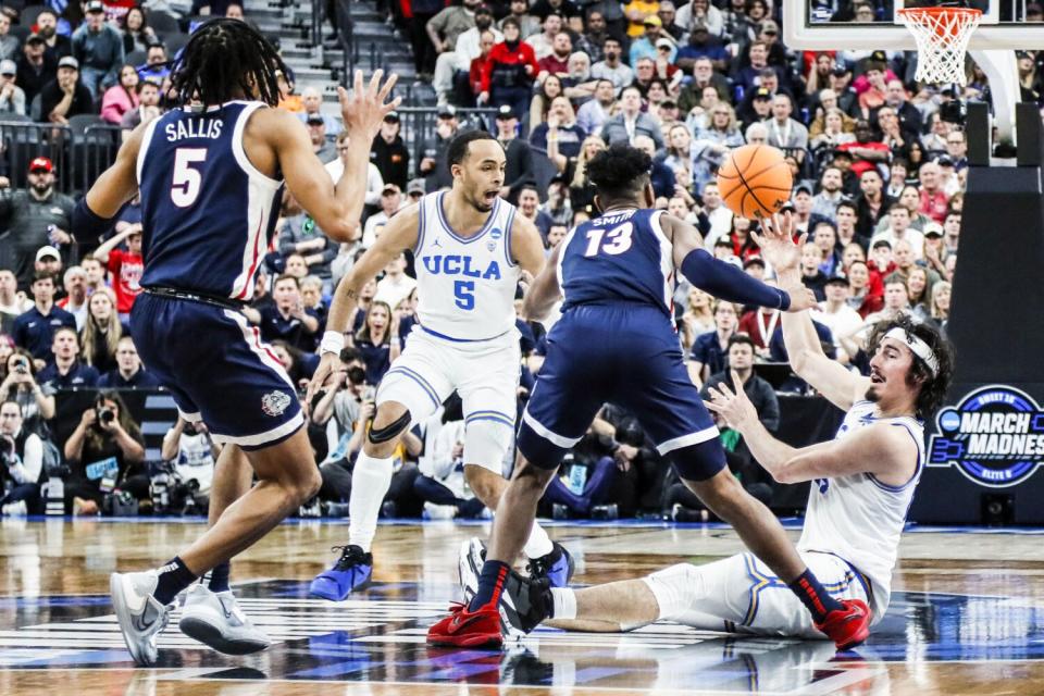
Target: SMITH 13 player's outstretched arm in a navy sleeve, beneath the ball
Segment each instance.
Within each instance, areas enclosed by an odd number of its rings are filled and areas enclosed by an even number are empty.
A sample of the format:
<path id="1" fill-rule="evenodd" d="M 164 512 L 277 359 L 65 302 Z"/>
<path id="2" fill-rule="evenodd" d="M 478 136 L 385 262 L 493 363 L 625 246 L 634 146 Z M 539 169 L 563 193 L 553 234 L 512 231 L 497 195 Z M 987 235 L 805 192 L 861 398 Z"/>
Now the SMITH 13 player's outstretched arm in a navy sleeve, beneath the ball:
<path id="1" fill-rule="evenodd" d="M 816 306 L 816 296 L 798 285 L 782 290 L 766 285 L 742 270 L 719 261 L 704 249 L 703 237 L 696 227 L 673 215 L 660 215 L 660 227 L 671 240 L 674 268 L 699 289 L 730 302 L 757 304 L 797 312 Z"/>

